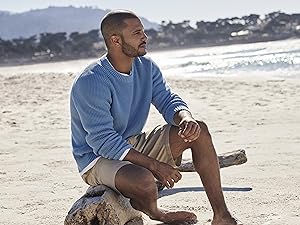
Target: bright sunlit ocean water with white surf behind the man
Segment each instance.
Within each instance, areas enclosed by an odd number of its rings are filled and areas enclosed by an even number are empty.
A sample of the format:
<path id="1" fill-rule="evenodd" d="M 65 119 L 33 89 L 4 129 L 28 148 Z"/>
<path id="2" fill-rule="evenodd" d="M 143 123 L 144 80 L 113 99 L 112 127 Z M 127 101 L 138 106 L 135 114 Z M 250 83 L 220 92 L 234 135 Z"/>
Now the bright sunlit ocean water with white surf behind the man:
<path id="1" fill-rule="evenodd" d="M 300 39 L 149 52 L 164 76 L 300 78 Z M 0 67 L 0 73 L 77 73 L 95 59 Z"/>

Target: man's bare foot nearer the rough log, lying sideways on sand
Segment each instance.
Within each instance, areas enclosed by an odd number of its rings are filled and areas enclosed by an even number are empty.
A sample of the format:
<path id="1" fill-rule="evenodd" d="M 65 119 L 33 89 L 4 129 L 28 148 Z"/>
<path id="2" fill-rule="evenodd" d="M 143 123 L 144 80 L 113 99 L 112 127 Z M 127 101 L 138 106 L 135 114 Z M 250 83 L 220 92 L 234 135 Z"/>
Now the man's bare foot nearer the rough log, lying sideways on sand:
<path id="1" fill-rule="evenodd" d="M 176 211 L 169 212 L 166 210 L 161 210 L 162 213 L 160 218 L 151 218 L 154 220 L 162 221 L 166 224 L 172 225 L 184 225 L 184 224 L 195 224 L 197 222 L 197 216 L 192 212 L 186 211 Z"/>

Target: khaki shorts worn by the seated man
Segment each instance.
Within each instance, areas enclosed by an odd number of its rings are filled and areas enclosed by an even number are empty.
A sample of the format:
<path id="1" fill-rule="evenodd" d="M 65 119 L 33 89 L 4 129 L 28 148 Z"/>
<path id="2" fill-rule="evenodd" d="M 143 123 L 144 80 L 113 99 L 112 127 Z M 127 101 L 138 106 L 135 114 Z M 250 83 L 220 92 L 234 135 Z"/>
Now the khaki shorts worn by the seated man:
<path id="1" fill-rule="evenodd" d="M 137 151 L 176 167 L 180 165 L 181 157 L 175 163 L 169 144 L 170 127 L 171 125 L 157 126 L 150 132 L 130 137 L 128 143 Z M 118 192 L 115 187 L 115 176 L 121 167 L 128 164 L 131 162 L 100 158 L 90 170 L 82 175 L 82 179 L 89 185 L 104 184 Z"/>

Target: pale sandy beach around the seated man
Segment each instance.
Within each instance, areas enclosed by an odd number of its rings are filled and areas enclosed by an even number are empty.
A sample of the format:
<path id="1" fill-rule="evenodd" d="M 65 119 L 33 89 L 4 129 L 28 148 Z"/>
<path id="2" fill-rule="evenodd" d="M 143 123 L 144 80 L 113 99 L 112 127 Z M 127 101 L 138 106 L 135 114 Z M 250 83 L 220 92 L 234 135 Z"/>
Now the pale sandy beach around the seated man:
<path id="1" fill-rule="evenodd" d="M 0 68 L 1 225 L 63 224 L 88 187 L 70 147 L 69 88 L 75 73 L 58 73 L 56 67 Z M 208 124 L 217 152 L 246 150 L 246 164 L 221 170 L 233 215 L 249 225 L 299 225 L 300 80 L 168 81 Z M 146 129 L 162 122 L 151 109 Z M 183 173 L 162 195 L 161 207 L 191 210 L 197 224 L 210 224 L 212 211 L 196 173 Z"/>

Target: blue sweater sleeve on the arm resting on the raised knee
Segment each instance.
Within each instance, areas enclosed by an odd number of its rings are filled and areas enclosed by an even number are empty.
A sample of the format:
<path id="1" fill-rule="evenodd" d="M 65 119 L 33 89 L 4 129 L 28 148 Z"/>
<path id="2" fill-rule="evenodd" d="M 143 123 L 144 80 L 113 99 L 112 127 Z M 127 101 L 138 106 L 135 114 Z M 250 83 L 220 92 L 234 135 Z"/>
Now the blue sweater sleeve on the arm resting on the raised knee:
<path id="1" fill-rule="evenodd" d="M 167 123 L 176 125 L 174 115 L 180 110 L 188 110 L 187 104 L 167 85 L 157 65 L 152 66 L 152 103 L 163 115 Z"/>

